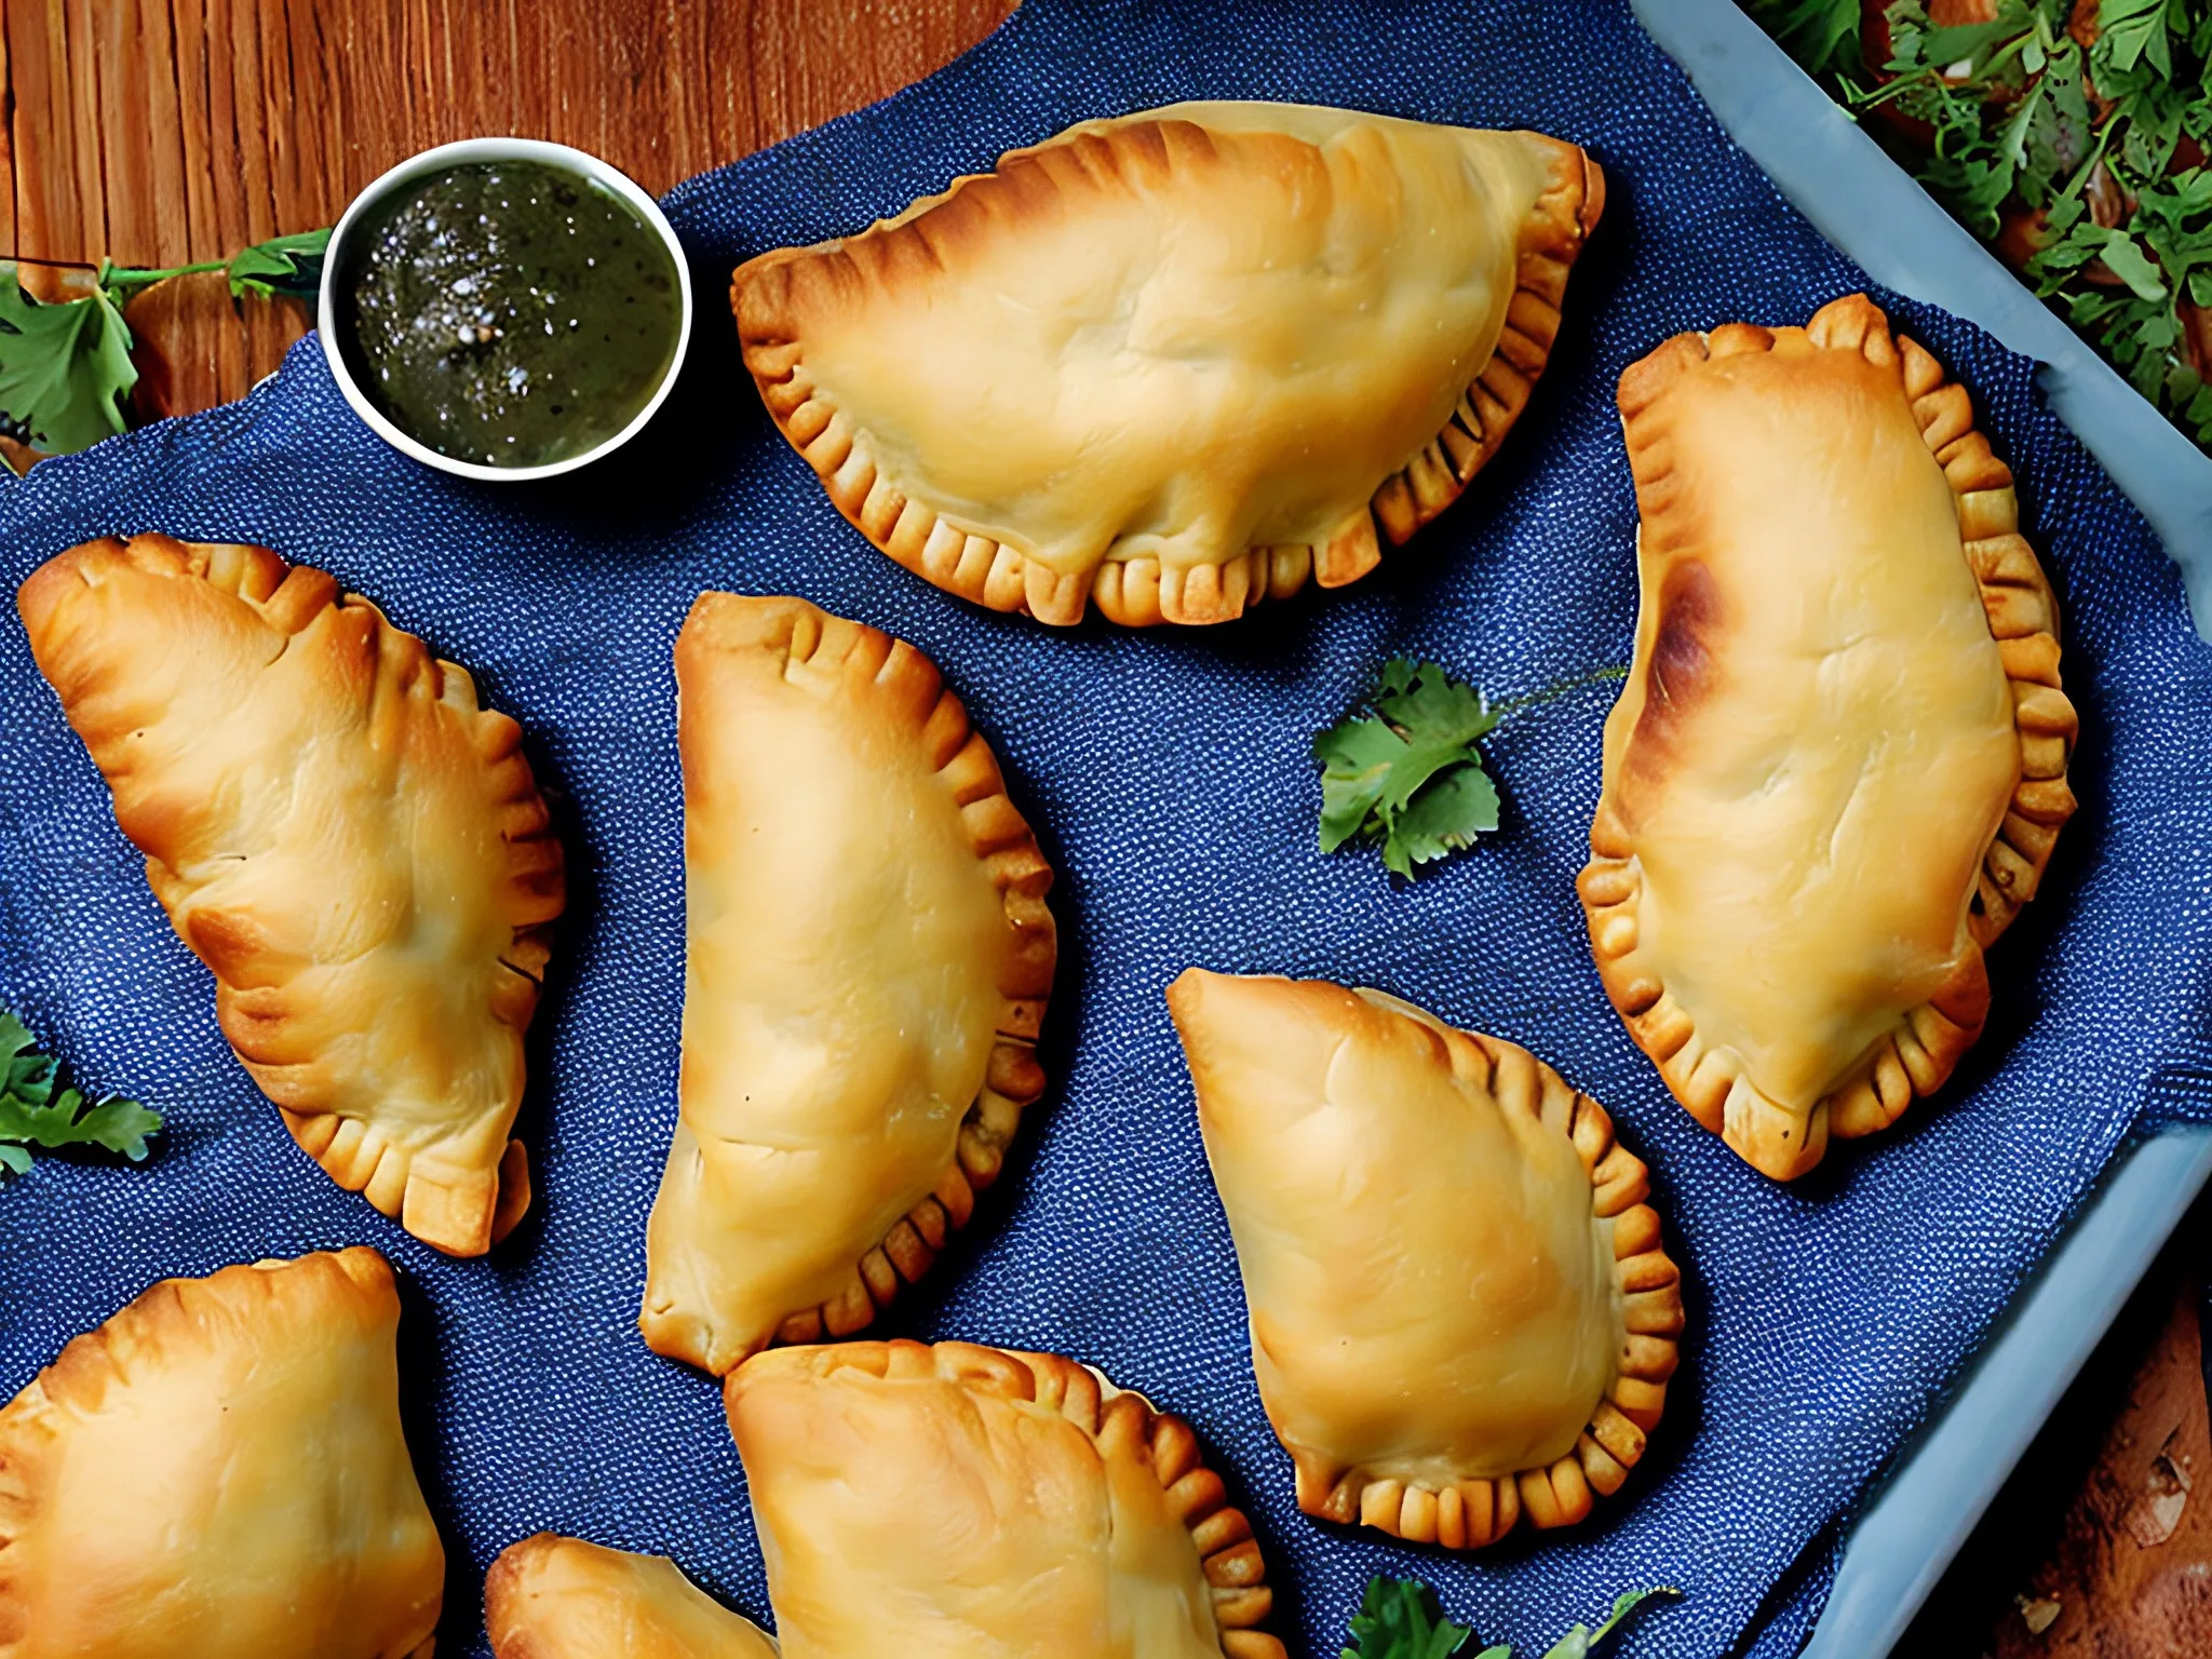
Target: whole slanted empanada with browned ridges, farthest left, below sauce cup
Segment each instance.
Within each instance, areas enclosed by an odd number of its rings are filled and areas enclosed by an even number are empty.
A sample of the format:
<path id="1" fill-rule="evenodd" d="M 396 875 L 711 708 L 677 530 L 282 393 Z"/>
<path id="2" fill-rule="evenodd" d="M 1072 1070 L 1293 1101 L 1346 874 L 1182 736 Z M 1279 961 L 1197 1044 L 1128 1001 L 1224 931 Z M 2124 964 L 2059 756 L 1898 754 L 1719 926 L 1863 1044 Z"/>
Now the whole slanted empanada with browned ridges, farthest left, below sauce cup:
<path id="1" fill-rule="evenodd" d="M 522 730 L 265 546 L 86 542 L 15 604 L 292 1137 L 425 1243 L 489 1250 L 531 1197 L 509 1130 L 564 891 Z"/>

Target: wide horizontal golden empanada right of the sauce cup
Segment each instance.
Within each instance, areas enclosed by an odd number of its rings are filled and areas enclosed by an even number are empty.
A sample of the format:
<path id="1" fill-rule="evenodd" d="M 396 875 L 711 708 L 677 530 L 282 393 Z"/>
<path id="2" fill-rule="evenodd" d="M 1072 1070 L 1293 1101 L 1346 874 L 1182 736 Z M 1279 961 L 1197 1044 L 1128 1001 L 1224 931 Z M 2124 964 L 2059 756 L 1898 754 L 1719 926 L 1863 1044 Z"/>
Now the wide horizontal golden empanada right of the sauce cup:
<path id="1" fill-rule="evenodd" d="M 1458 498 L 1601 204 L 1537 133 L 1172 104 L 761 254 L 730 299 L 783 436 L 909 571 L 1053 624 L 1223 622 Z"/>

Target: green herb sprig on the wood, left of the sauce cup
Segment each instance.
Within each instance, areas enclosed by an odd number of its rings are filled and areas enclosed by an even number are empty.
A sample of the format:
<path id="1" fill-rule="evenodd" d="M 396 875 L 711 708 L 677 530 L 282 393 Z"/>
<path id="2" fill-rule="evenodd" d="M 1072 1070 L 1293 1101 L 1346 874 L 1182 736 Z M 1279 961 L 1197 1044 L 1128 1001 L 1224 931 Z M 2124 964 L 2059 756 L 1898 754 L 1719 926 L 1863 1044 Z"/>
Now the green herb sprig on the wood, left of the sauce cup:
<path id="1" fill-rule="evenodd" d="M 60 301 L 33 299 L 15 261 L 0 259 L 0 434 L 46 456 L 69 456 L 126 431 L 137 367 L 124 305 L 155 283 L 206 270 L 228 276 L 232 299 L 254 294 L 312 305 L 327 246 L 327 230 L 305 230 L 197 265 L 102 263 L 88 294 Z"/>

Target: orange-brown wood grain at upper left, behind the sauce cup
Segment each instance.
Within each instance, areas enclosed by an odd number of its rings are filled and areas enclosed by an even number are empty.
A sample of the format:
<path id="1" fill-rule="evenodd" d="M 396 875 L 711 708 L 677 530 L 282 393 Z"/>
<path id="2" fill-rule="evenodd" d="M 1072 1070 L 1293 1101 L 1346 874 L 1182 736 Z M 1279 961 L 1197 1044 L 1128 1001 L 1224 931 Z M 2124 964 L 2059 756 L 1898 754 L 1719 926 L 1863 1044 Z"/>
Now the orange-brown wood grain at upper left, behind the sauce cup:
<path id="1" fill-rule="evenodd" d="M 1004 0 L 0 0 L 0 252 L 184 265 L 332 223 L 394 161 L 513 133 L 653 192 L 872 104 Z M 64 292 L 64 272 L 33 274 Z M 139 416 L 243 396 L 307 319 L 188 276 L 131 305 Z"/>

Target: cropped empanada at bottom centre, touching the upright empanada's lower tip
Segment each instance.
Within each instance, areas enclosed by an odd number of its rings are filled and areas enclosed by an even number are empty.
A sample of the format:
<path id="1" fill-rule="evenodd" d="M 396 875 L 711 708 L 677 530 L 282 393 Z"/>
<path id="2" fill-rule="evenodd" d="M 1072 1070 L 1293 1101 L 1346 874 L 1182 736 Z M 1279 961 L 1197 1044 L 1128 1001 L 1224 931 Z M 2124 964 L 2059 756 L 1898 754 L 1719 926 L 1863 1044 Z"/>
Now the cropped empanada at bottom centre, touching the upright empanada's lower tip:
<path id="1" fill-rule="evenodd" d="M 796 1347 L 723 1398 L 785 1659 L 1285 1659 L 1190 1425 L 1075 1360 Z"/>

